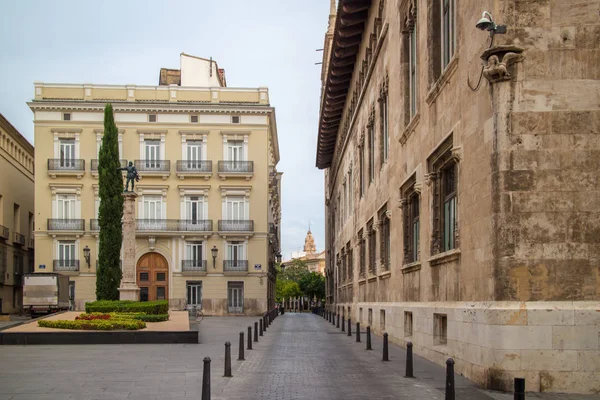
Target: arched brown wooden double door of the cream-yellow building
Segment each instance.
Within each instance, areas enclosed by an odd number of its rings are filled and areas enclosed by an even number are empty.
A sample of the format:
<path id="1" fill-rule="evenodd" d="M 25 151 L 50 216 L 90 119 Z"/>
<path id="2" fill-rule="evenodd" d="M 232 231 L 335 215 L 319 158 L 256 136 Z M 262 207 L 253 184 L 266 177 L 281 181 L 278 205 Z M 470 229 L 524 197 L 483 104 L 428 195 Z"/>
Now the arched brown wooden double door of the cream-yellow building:
<path id="1" fill-rule="evenodd" d="M 169 299 L 169 264 L 158 253 L 144 254 L 136 268 L 136 282 L 140 288 L 140 300 Z"/>

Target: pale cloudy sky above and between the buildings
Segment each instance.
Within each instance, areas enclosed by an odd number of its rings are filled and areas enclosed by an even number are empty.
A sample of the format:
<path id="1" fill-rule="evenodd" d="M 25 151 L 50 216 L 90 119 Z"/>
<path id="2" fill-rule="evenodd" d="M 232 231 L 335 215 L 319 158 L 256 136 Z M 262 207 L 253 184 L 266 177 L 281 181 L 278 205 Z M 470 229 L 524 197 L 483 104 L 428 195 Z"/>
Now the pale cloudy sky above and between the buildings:
<path id="1" fill-rule="evenodd" d="M 284 259 L 310 227 L 324 248 L 315 167 L 328 0 L 0 0 L 0 113 L 33 143 L 34 81 L 157 85 L 179 54 L 212 57 L 230 87 L 267 86 L 283 172 Z M 35 143 L 34 143 L 35 145 Z"/>

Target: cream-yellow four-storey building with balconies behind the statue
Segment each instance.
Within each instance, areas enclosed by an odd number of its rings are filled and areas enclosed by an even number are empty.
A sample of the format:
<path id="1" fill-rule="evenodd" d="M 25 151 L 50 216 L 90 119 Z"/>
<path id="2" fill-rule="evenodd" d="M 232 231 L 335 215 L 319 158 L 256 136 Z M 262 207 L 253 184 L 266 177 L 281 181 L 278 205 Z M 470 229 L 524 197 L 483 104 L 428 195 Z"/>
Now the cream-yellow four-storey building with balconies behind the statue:
<path id="1" fill-rule="evenodd" d="M 274 306 L 279 147 L 267 88 L 229 88 L 213 60 L 181 54 L 158 86 L 35 83 L 36 260 L 70 275 L 73 306 L 96 298 L 98 152 L 112 103 L 136 184 L 142 300 L 205 314 Z M 89 249 L 89 259 L 85 251 Z M 216 258 L 213 258 L 216 255 Z"/>

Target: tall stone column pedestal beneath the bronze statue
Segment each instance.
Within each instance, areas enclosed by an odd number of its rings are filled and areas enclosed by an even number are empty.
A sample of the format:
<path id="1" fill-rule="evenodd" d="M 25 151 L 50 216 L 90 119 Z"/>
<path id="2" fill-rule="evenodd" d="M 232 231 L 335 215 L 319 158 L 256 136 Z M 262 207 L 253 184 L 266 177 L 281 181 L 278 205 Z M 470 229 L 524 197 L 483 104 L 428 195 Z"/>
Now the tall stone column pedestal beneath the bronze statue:
<path id="1" fill-rule="evenodd" d="M 140 300 L 135 275 L 135 192 L 124 192 L 123 205 L 123 278 L 119 287 L 121 300 Z"/>

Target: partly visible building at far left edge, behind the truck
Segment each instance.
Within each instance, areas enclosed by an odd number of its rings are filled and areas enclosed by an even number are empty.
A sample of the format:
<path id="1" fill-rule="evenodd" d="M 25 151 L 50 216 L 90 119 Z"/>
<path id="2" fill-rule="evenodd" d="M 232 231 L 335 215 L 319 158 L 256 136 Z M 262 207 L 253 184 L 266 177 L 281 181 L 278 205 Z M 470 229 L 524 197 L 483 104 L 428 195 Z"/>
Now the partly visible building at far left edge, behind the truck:
<path id="1" fill-rule="evenodd" d="M 33 146 L 0 114 L 0 313 L 20 313 L 33 272 Z"/>

